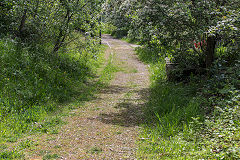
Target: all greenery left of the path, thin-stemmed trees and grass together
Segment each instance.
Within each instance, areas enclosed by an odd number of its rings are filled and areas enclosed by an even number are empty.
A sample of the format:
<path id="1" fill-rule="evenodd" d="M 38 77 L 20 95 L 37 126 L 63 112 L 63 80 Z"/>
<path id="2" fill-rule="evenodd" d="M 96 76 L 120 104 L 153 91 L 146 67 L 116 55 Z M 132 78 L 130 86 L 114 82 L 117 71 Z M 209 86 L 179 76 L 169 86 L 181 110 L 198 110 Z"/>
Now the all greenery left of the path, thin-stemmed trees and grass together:
<path id="1" fill-rule="evenodd" d="M 24 134 L 56 134 L 62 113 L 108 79 L 91 82 L 103 62 L 100 12 L 98 0 L 0 2 L 0 159 L 23 158 L 21 144 L 5 143 Z"/>

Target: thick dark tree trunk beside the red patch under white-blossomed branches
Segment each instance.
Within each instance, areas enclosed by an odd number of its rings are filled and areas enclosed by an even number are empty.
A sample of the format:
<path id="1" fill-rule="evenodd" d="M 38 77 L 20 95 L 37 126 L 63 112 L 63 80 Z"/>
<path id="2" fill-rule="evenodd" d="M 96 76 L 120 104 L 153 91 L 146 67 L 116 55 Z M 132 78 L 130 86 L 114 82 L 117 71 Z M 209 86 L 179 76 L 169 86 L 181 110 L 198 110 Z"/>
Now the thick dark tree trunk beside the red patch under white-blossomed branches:
<path id="1" fill-rule="evenodd" d="M 207 38 L 207 48 L 206 48 L 206 68 L 210 68 L 214 61 L 216 37 L 210 36 Z"/>

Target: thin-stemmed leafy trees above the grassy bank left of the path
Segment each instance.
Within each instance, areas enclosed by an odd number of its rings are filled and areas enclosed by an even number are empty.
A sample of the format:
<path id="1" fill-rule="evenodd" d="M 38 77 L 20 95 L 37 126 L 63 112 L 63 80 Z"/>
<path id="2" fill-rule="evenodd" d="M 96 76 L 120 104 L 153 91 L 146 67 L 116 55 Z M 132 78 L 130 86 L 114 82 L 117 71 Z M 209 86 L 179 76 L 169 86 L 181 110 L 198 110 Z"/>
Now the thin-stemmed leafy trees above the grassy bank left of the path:
<path id="1" fill-rule="evenodd" d="M 56 52 L 74 31 L 96 32 L 101 1 L 3 0 L 1 35 L 23 41 L 51 42 Z"/>

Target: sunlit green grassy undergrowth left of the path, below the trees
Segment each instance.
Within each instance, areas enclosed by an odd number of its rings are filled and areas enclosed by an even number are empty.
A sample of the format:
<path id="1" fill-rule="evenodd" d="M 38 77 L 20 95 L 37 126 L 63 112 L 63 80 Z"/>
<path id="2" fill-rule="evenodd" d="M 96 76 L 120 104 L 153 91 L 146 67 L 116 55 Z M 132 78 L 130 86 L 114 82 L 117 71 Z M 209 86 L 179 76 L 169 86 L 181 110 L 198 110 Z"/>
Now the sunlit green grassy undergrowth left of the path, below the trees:
<path id="1" fill-rule="evenodd" d="M 94 98 L 110 79 L 104 69 L 101 81 L 94 81 L 104 62 L 104 47 L 94 40 L 80 38 L 58 55 L 50 48 L 0 39 L 0 159 L 23 158 L 13 146 L 29 134 L 57 134 L 62 115 Z"/>

